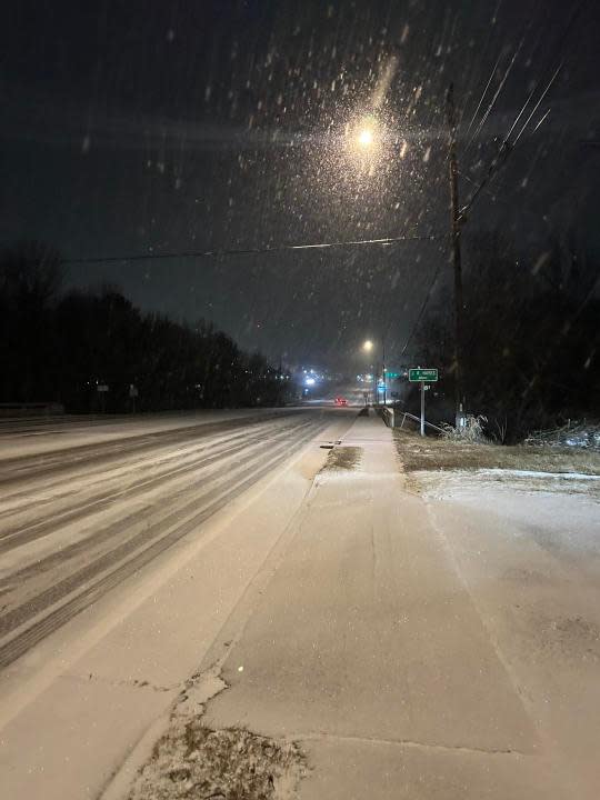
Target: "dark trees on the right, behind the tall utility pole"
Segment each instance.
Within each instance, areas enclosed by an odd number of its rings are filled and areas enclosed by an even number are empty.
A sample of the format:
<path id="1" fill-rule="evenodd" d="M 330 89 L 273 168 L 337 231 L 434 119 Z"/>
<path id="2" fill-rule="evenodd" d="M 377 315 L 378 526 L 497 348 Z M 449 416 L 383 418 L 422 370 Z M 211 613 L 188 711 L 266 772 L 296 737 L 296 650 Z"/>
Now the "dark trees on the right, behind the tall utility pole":
<path id="1" fill-rule="evenodd" d="M 464 242 L 462 387 L 467 410 L 487 417 L 500 441 L 600 416 L 600 264 L 550 242 L 518 253 L 498 232 Z M 451 289 L 426 318 L 417 359 L 439 367 L 438 416 L 452 419 L 454 334 Z M 433 408 L 436 403 L 433 403 Z"/>

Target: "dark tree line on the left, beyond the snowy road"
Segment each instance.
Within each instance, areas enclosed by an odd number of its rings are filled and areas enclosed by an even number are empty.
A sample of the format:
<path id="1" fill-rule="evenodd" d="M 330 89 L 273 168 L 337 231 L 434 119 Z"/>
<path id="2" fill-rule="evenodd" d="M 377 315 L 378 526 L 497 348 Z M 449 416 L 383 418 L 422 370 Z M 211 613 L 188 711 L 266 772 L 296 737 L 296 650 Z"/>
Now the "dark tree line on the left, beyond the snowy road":
<path id="1" fill-rule="evenodd" d="M 111 287 L 63 291 L 60 264 L 58 252 L 34 242 L 0 253 L 0 402 L 124 412 L 289 399 L 289 376 L 211 323 L 142 312 Z"/>

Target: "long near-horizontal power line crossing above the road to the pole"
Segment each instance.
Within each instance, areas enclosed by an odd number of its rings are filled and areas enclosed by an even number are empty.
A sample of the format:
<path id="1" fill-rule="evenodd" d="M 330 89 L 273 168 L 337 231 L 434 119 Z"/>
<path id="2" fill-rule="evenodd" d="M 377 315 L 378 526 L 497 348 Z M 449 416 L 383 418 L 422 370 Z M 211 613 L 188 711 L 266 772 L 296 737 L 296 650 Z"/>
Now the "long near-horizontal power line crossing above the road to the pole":
<path id="1" fill-rule="evenodd" d="M 181 250 L 167 253 L 133 253 L 129 256 L 92 256 L 84 258 L 62 259 L 62 264 L 87 264 L 87 263 L 114 263 L 122 261 L 160 261 L 166 259 L 201 259 L 201 258 L 228 258 L 234 256 L 257 256 L 261 253 L 289 252 L 294 250 L 331 250 L 333 248 L 352 247 L 389 247 L 413 241 L 439 241 L 443 236 L 402 236 L 384 237 L 381 239 L 353 239 L 349 241 L 317 242 L 302 244 L 276 244 L 257 248 L 222 248 L 217 250 Z"/>

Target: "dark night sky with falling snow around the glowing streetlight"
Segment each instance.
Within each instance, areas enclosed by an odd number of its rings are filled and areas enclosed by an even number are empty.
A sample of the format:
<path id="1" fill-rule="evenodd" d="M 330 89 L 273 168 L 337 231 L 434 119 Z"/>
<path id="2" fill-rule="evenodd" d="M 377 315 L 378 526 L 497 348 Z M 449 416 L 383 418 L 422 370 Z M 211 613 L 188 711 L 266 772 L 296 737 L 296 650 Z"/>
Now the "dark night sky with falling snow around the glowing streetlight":
<path id="1" fill-rule="evenodd" d="M 453 81 L 462 200 L 534 90 L 467 253 L 486 230 L 532 259 L 549 237 L 600 248 L 598 2 L 19 0 L 0 19 L 3 244 L 78 259 L 446 236 Z M 366 114 L 368 161 L 348 143 Z M 72 264 L 67 279 L 213 320 L 273 359 L 346 367 L 366 336 L 400 359 L 440 263 L 441 303 L 440 239 Z"/>

